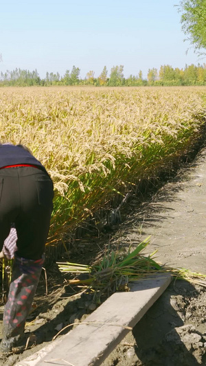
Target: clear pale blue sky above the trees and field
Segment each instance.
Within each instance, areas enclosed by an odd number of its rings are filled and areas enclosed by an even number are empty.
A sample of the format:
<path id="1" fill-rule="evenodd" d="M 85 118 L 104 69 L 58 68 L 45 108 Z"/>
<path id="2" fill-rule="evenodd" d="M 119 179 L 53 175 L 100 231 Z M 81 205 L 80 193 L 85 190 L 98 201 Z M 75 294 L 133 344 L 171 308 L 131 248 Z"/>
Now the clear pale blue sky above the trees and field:
<path id="1" fill-rule="evenodd" d="M 180 0 L 1 0 L 0 71 L 16 67 L 80 77 L 124 65 L 124 76 L 199 60 L 184 42 Z M 189 48 L 187 54 L 185 52 Z"/>

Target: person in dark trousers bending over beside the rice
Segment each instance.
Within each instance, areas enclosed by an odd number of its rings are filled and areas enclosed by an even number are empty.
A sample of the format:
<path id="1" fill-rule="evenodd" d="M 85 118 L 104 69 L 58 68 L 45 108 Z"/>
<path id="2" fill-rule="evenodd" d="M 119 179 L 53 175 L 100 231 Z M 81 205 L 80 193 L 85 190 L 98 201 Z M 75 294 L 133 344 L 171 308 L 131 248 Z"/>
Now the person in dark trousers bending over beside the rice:
<path id="1" fill-rule="evenodd" d="M 44 262 L 53 196 L 52 179 L 27 148 L 0 145 L 0 251 L 12 225 L 18 237 L 0 354 L 25 345 L 25 320 Z"/>

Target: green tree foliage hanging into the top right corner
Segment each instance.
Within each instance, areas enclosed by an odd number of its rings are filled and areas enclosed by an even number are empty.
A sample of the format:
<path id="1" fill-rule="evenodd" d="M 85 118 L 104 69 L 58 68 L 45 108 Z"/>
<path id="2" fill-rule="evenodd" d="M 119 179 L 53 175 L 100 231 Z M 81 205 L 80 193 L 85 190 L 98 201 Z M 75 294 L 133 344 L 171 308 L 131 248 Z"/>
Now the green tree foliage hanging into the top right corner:
<path id="1" fill-rule="evenodd" d="M 179 12 L 182 30 L 194 49 L 206 49 L 206 0 L 182 0 Z"/>

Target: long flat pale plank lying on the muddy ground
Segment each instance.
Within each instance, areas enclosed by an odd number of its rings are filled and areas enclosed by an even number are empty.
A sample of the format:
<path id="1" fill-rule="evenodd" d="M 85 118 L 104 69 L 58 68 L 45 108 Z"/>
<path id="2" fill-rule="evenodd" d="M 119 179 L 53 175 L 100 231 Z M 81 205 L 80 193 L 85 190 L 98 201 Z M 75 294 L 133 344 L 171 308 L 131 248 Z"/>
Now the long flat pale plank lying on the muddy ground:
<path id="1" fill-rule="evenodd" d="M 157 273 L 130 284 L 130 292 L 115 293 L 85 323 L 17 363 L 16 366 L 98 366 L 144 316 L 171 282 Z"/>

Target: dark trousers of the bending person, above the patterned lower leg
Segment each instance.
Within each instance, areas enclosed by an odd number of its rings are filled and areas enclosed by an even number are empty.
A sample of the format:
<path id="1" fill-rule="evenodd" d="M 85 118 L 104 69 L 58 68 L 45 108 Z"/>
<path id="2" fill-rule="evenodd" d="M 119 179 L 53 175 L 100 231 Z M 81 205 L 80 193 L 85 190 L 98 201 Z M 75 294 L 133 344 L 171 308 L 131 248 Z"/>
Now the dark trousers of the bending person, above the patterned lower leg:
<path id="1" fill-rule="evenodd" d="M 29 260 L 42 257 L 53 196 L 52 179 L 38 168 L 0 170 L 0 251 L 14 222 L 18 236 L 16 255 Z"/>

